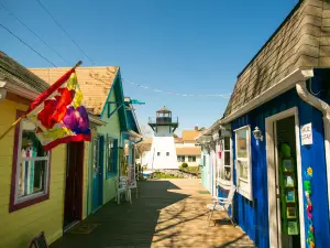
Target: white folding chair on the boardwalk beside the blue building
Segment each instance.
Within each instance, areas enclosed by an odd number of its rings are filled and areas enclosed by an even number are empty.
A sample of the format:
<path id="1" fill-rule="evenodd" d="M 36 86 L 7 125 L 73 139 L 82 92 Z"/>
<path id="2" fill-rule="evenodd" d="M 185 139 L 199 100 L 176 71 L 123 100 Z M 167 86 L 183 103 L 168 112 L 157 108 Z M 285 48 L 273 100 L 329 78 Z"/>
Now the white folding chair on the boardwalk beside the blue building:
<path id="1" fill-rule="evenodd" d="M 210 222 L 212 219 L 215 211 L 227 212 L 230 222 L 232 223 L 232 225 L 234 225 L 234 223 L 232 220 L 232 217 L 229 214 L 229 207 L 232 206 L 232 201 L 233 201 L 233 196 L 235 194 L 235 190 L 237 190 L 235 185 L 232 185 L 229 193 L 228 193 L 227 198 L 215 196 L 213 197 L 213 200 L 215 200 L 213 203 L 207 205 L 207 208 L 209 209 L 209 217 L 208 217 L 209 225 L 210 225 Z"/>

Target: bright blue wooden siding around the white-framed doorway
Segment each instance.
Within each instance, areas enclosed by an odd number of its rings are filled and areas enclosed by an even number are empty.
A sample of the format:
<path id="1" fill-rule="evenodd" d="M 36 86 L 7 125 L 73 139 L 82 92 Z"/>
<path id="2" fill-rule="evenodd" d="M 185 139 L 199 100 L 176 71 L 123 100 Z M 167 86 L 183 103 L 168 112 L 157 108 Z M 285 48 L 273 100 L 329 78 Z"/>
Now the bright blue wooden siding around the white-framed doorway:
<path id="1" fill-rule="evenodd" d="M 315 91 L 324 88 L 326 84 L 330 84 L 329 71 L 316 69 L 312 78 L 312 86 Z M 326 79 L 324 79 L 326 78 Z M 321 95 L 326 98 L 326 95 Z M 326 99 L 329 101 L 329 99 Z M 326 175 L 326 154 L 324 154 L 324 137 L 322 115 L 319 110 L 302 101 L 296 89 L 274 98 L 273 100 L 253 109 L 251 112 L 232 121 L 232 130 L 250 125 L 251 130 L 257 126 L 263 133 L 265 133 L 265 118 L 284 111 L 286 109 L 298 107 L 299 125 L 312 123 L 312 145 L 301 145 L 301 169 L 302 172 L 308 166 L 312 166 L 314 176 L 311 182 L 312 195 L 311 202 L 314 205 L 312 216 L 315 226 L 316 247 L 330 247 L 330 223 L 328 208 L 328 193 L 327 193 L 327 175 Z M 232 133 L 234 137 L 234 133 Z M 235 148 L 233 139 L 233 148 Z M 234 198 L 234 218 L 237 223 L 244 229 L 249 237 L 254 240 L 257 247 L 270 247 L 268 237 L 268 195 L 267 195 L 267 164 L 266 164 L 266 141 L 258 143 L 251 136 L 251 153 L 252 153 L 252 185 L 253 185 L 253 201 L 246 200 L 240 194 L 235 194 Z M 235 152 L 233 152 L 233 159 Z M 298 175 L 301 176 L 301 175 Z M 233 170 L 233 180 L 237 184 L 235 164 Z M 302 179 L 304 180 L 304 179 Z M 301 188 L 299 188 L 300 191 Z M 219 188 L 220 196 L 227 194 L 226 191 Z M 305 213 L 305 233 L 307 235 L 307 216 L 305 211 L 306 198 L 304 196 Z"/>

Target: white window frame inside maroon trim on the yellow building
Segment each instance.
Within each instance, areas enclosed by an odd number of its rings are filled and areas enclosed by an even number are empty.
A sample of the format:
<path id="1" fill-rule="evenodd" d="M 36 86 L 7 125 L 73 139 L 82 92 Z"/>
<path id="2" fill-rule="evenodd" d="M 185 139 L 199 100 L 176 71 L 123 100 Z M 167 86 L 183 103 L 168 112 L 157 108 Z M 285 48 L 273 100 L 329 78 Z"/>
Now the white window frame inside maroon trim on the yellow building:
<path id="1" fill-rule="evenodd" d="M 19 142 L 18 142 L 18 154 L 16 154 L 16 174 L 15 174 L 15 194 L 14 194 L 14 204 L 20 204 L 20 203 L 24 203 L 26 201 L 33 200 L 33 198 L 37 198 L 41 197 L 43 195 L 47 195 L 48 193 L 48 181 L 50 181 L 50 154 L 51 152 L 47 152 L 46 157 L 35 157 L 35 158 L 30 158 L 30 159 L 23 159 L 22 158 L 22 138 L 23 138 L 23 121 L 29 121 L 26 119 L 23 119 L 20 122 L 20 134 L 19 134 Z M 31 122 L 31 121 L 29 121 Z M 33 122 L 32 122 L 33 123 Z M 34 123 L 33 123 L 34 125 Z M 43 192 L 37 192 L 35 194 L 31 194 L 31 195 L 26 195 L 26 196 L 21 196 L 19 197 L 19 187 L 20 187 L 20 174 L 21 174 L 21 168 L 20 164 L 23 161 L 31 161 L 31 162 L 35 162 L 35 161 L 46 161 L 46 168 L 45 168 L 45 185 L 44 185 L 44 191 Z"/>

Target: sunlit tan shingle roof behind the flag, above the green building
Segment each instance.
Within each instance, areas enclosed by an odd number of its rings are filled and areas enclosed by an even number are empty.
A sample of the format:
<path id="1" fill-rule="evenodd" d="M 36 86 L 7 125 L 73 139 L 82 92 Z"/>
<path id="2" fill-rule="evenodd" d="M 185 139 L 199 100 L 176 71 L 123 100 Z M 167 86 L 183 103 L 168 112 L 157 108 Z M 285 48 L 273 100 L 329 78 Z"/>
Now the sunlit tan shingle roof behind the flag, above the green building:
<path id="1" fill-rule="evenodd" d="M 70 68 L 30 68 L 50 85 Z M 94 115 L 101 115 L 110 88 L 118 73 L 118 66 L 78 67 L 76 74 L 82 91 L 86 108 Z"/>

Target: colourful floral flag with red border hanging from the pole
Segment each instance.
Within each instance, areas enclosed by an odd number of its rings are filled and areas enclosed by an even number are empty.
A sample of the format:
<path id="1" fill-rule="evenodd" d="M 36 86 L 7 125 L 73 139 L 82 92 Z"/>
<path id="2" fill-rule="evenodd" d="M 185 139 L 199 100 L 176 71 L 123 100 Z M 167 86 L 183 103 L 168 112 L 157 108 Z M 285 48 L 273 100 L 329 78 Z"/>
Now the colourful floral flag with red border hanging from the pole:
<path id="1" fill-rule="evenodd" d="M 70 141 L 90 141 L 88 112 L 75 69 L 63 75 L 29 107 L 26 118 L 37 126 L 45 150 Z"/>

